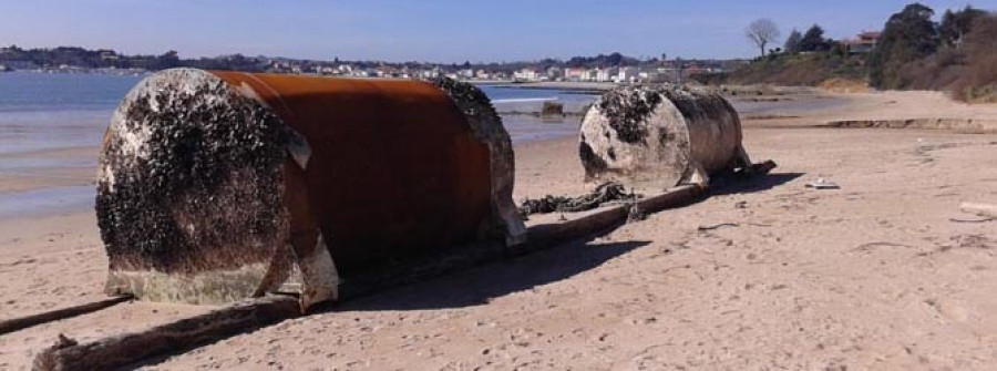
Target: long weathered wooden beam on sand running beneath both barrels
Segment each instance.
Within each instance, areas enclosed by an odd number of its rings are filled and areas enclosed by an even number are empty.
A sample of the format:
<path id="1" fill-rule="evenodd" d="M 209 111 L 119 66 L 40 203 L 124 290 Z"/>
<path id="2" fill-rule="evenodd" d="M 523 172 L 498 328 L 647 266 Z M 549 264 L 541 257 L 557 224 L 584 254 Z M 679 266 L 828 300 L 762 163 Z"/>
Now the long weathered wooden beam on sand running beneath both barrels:
<path id="1" fill-rule="evenodd" d="M 630 208 L 634 206 L 644 214 L 650 214 L 690 204 L 703 195 L 706 195 L 706 189 L 702 187 L 682 186 L 634 204 L 596 210 L 573 220 L 533 226 L 527 231 L 527 243 L 512 251 L 502 244 L 482 243 L 407 261 L 404 266 L 371 268 L 369 274 L 345 280 L 339 287 L 339 299 L 354 299 L 388 288 L 496 261 L 510 255 L 543 250 L 618 227 L 627 221 Z M 300 315 L 296 298 L 273 296 L 239 302 L 144 331 L 119 334 L 84 344 L 60 338 L 56 344 L 35 358 L 34 370 L 117 369 L 150 358 L 175 354 L 202 347 Z"/>

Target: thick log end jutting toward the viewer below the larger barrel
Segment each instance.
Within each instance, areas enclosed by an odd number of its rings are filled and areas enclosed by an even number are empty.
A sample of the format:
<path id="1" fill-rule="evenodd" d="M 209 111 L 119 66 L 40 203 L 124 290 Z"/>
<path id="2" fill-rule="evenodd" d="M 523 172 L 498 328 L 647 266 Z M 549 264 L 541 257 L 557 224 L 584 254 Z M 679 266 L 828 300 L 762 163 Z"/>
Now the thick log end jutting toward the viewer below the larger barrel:
<path id="1" fill-rule="evenodd" d="M 82 344 L 60 337 L 59 342 L 35 357 L 33 370 L 113 370 L 152 357 L 202 347 L 300 313 L 297 298 L 270 296 Z"/>

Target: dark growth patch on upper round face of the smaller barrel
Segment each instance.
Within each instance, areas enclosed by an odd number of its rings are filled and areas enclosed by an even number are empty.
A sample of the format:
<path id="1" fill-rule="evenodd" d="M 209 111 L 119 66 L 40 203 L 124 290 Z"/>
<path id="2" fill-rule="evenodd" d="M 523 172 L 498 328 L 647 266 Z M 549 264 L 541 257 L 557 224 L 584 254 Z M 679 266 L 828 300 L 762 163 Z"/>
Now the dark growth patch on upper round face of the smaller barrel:
<path id="1" fill-rule="evenodd" d="M 609 127 L 616 131 L 617 137 L 625 143 L 645 143 L 647 127 L 645 122 L 661 103 L 661 94 L 657 90 L 637 87 L 615 90 L 599 100 L 599 111 L 609 120 Z"/>

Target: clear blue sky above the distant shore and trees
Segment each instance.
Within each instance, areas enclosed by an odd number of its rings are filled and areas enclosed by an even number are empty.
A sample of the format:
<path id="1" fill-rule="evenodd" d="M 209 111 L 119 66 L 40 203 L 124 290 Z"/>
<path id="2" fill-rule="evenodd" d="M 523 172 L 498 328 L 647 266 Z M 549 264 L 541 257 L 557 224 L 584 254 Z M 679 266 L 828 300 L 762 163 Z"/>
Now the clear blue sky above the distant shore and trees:
<path id="1" fill-rule="evenodd" d="M 991 0 L 922 1 L 947 8 Z M 0 44 L 83 45 L 182 56 L 463 62 L 634 56 L 739 58 L 758 18 L 783 37 L 820 23 L 834 38 L 880 29 L 894 0 L 2 0 Z M 780 41 L 781 43 L 781 41 Z"/>

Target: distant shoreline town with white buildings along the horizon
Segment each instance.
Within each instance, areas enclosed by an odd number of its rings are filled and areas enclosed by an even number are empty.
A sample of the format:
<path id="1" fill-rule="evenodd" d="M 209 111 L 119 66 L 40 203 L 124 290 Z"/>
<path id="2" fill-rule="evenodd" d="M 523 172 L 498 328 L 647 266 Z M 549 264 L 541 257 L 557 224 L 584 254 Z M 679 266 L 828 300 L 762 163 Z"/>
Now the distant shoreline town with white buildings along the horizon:
<path id="1" fill-rule="evenodd" d="M 747 63 L 744 60 L 683 60 L 680 58 L 636 59 L 620 53 L 545 59 L 534 62 L 422 63 L 378 61 L 315 61 L 288 58 L 246 56 L 181 59 L 176 52 L 162 55 L 124 55 L 114 50 L 78 47 L 51 49 L 0 48 L 0 72 L 142 74 L 171 68 L 199 68 L 246 72 L 297 73 L 352 78 L 434 79 L 448 76 L 465 81 L 494 82 L 681 82 L 701 73 L 722 73 Z"/>

